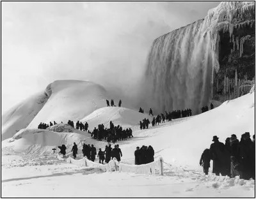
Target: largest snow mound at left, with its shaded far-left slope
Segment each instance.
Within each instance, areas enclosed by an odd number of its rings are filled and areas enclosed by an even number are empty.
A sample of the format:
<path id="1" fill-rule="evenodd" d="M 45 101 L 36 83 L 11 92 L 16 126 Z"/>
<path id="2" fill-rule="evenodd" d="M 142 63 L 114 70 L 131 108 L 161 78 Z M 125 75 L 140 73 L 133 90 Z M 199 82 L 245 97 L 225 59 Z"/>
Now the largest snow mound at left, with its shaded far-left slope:
<path id="1" fill-rule="evenodd" d="M 81 80 L 57 80 L 3 114 L 1 140 L 11 138 L 23 128 L 38 128 L 40 122 L 67 123 L 81 120 L 98 108 L 106 107 L 109 96 L 102 85 Z M 134 109 L 122 99 L 122 105 Z"/>

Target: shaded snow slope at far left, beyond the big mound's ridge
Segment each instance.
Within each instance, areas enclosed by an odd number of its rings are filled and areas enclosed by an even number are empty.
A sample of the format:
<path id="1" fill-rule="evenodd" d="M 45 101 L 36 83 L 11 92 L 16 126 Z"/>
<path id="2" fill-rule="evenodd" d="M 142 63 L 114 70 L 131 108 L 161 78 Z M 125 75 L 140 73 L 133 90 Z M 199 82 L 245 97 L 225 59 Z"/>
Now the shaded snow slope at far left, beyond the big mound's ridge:
<path id="1" fill-rule="evenodd" d="M 11 138 L 20 129 L 26 128 L 48 100 L 45 92 L 39 92 L 3 114 L 1 140 Z"/>

